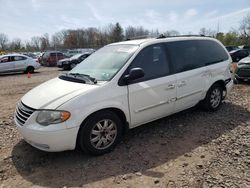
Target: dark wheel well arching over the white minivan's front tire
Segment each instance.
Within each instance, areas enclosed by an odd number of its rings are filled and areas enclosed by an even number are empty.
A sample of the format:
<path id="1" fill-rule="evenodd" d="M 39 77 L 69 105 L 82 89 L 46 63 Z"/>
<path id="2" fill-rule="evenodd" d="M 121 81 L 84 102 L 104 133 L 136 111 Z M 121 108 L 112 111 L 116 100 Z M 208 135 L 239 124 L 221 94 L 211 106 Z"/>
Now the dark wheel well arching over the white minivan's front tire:
<path id="1" fill-rule="evenodd" d="M 78 133 L 77 133 L 77 138 L 76 138 L 76 148 L 79 147 L 78 145 L 78 138 L 79 138 L 79 132 L 80 132 L 80 129 L 84 126 L 85 122 L 91 118 L 91 116 L 93 116 L 95 113 L 97 112 L 101 112 L 101 111 L 111 111 L 113 113 L 115 113 L 122 121 L 122 124 L 123 124 L 123 127 L 122 127 L 122 133 L 125 134 L 126 131 L 128 130 L 129 128 L 129 124 L 128 124 L 128 121 L 126 119 L 126 116 L 124 114 L 124 112 L 118 108 L 104 108 L 104 109 L 101 109 L 101 110 L 98 110 L 96 112 L 93 112 L 92 114 L 88 115 L 84 120 L 83 122 L 81 123 L 80 125 L 80 128 L 78 130 Z"/>

